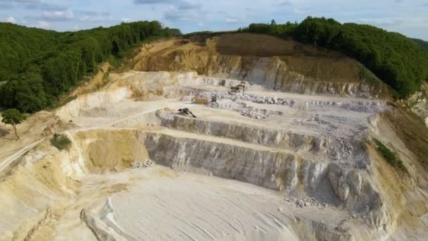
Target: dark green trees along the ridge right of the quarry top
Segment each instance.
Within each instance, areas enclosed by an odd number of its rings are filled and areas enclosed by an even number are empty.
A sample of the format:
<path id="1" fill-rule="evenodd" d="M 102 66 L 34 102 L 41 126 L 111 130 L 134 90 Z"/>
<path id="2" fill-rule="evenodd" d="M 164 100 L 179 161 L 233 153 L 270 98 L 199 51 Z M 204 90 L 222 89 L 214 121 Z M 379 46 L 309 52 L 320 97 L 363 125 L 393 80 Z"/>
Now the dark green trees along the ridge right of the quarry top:
<path id="1" fill-rule="evenodd" d="M 428 80 L 427 42 L 409 39 L 370 25 L 341 24 L 329 18 L 308 17 L 301 23 L 253 23 L 241 32 L 293 38 L 315 47 L 339 51 L 363 63 L 393 90 L 405 98 Z M 419 46 L 420 44 L 421 46 Z"/>

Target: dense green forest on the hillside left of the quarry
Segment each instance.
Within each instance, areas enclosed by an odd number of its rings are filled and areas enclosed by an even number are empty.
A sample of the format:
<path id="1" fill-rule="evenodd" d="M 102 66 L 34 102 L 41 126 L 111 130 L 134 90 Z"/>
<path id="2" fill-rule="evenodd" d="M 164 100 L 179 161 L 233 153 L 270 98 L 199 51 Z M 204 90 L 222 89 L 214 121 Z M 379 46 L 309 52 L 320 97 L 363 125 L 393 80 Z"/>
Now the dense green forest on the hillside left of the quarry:
<path id="1" fill-rule="evenodd" d="M 0 106 L 35 112 L 56 104 L 96 64 L 144 41 L 181 35 L 158 21 L 54 32 L 0 23 Z"/>

